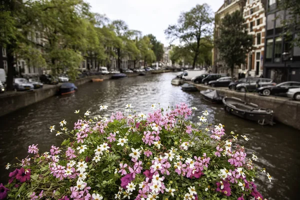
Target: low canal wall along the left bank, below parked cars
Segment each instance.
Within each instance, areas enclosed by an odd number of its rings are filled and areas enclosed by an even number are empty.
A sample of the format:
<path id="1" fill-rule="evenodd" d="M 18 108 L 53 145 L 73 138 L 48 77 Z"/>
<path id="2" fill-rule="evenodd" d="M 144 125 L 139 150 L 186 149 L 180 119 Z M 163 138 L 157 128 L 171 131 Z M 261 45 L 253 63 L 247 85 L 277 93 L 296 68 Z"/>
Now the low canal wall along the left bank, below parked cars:
<path id="1" fill-rule="evenodd" d="M 155 71 L 144 71 L 144 73 L 164 73 L 169 72 L 169 70 L 155 70 Z M 127 73 L 128 77 L 138 76 L 139 73 Z M 112 74 L 107 75 L 95 75 L 80 78 L 74 81 L 76 86 L 90 82 L 92 78 L 110 79 Z M 60 84 L 57 85 L 47 85 L 44 84 L 43 88 L 34 89 L 33 91 L 16 91 L 7 92 L 0 95 L 0 116 L 13 112 L 17 109 L 36 103 L 48 97 L 56 95 L 57 89 Z"/>

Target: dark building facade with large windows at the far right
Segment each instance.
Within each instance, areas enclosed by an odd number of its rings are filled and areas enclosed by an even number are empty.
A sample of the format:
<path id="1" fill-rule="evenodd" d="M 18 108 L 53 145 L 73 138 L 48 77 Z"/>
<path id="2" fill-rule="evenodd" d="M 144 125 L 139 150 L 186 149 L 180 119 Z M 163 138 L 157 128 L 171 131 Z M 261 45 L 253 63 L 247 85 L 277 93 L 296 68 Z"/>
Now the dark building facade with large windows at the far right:
<path id="1" fill-rule="evenodd" d="M 263 56 L 263 75 L 276 82 L 300 81 L 300 47 L 282 37 L 282 19 L 289 17 L 287 10 L 279 10 L 276 0 L 266 2 L 266 35 Z M 292 39 L 300 36 L 299 30 L 292 31 Z M 283 56 L 286 54 L 286 56 Z"/>

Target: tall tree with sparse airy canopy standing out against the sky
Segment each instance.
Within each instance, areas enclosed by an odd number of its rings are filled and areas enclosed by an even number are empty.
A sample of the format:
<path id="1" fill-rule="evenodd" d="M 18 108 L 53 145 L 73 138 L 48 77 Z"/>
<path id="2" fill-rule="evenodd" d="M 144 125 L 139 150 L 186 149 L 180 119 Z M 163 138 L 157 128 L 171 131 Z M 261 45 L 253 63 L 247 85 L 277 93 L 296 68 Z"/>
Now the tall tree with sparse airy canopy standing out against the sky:
<path id="1" fill-rule="evenodd" d="M 200 53 L 200 40 L 211 34 L 213 12 L 208 4 L 197 4 L 194 8 L 180 14 L 177 24 L 169 25 L 164 31 L 171 41 L 178 39 L 181 44 L 193 51 L 194 68 Z"/>

